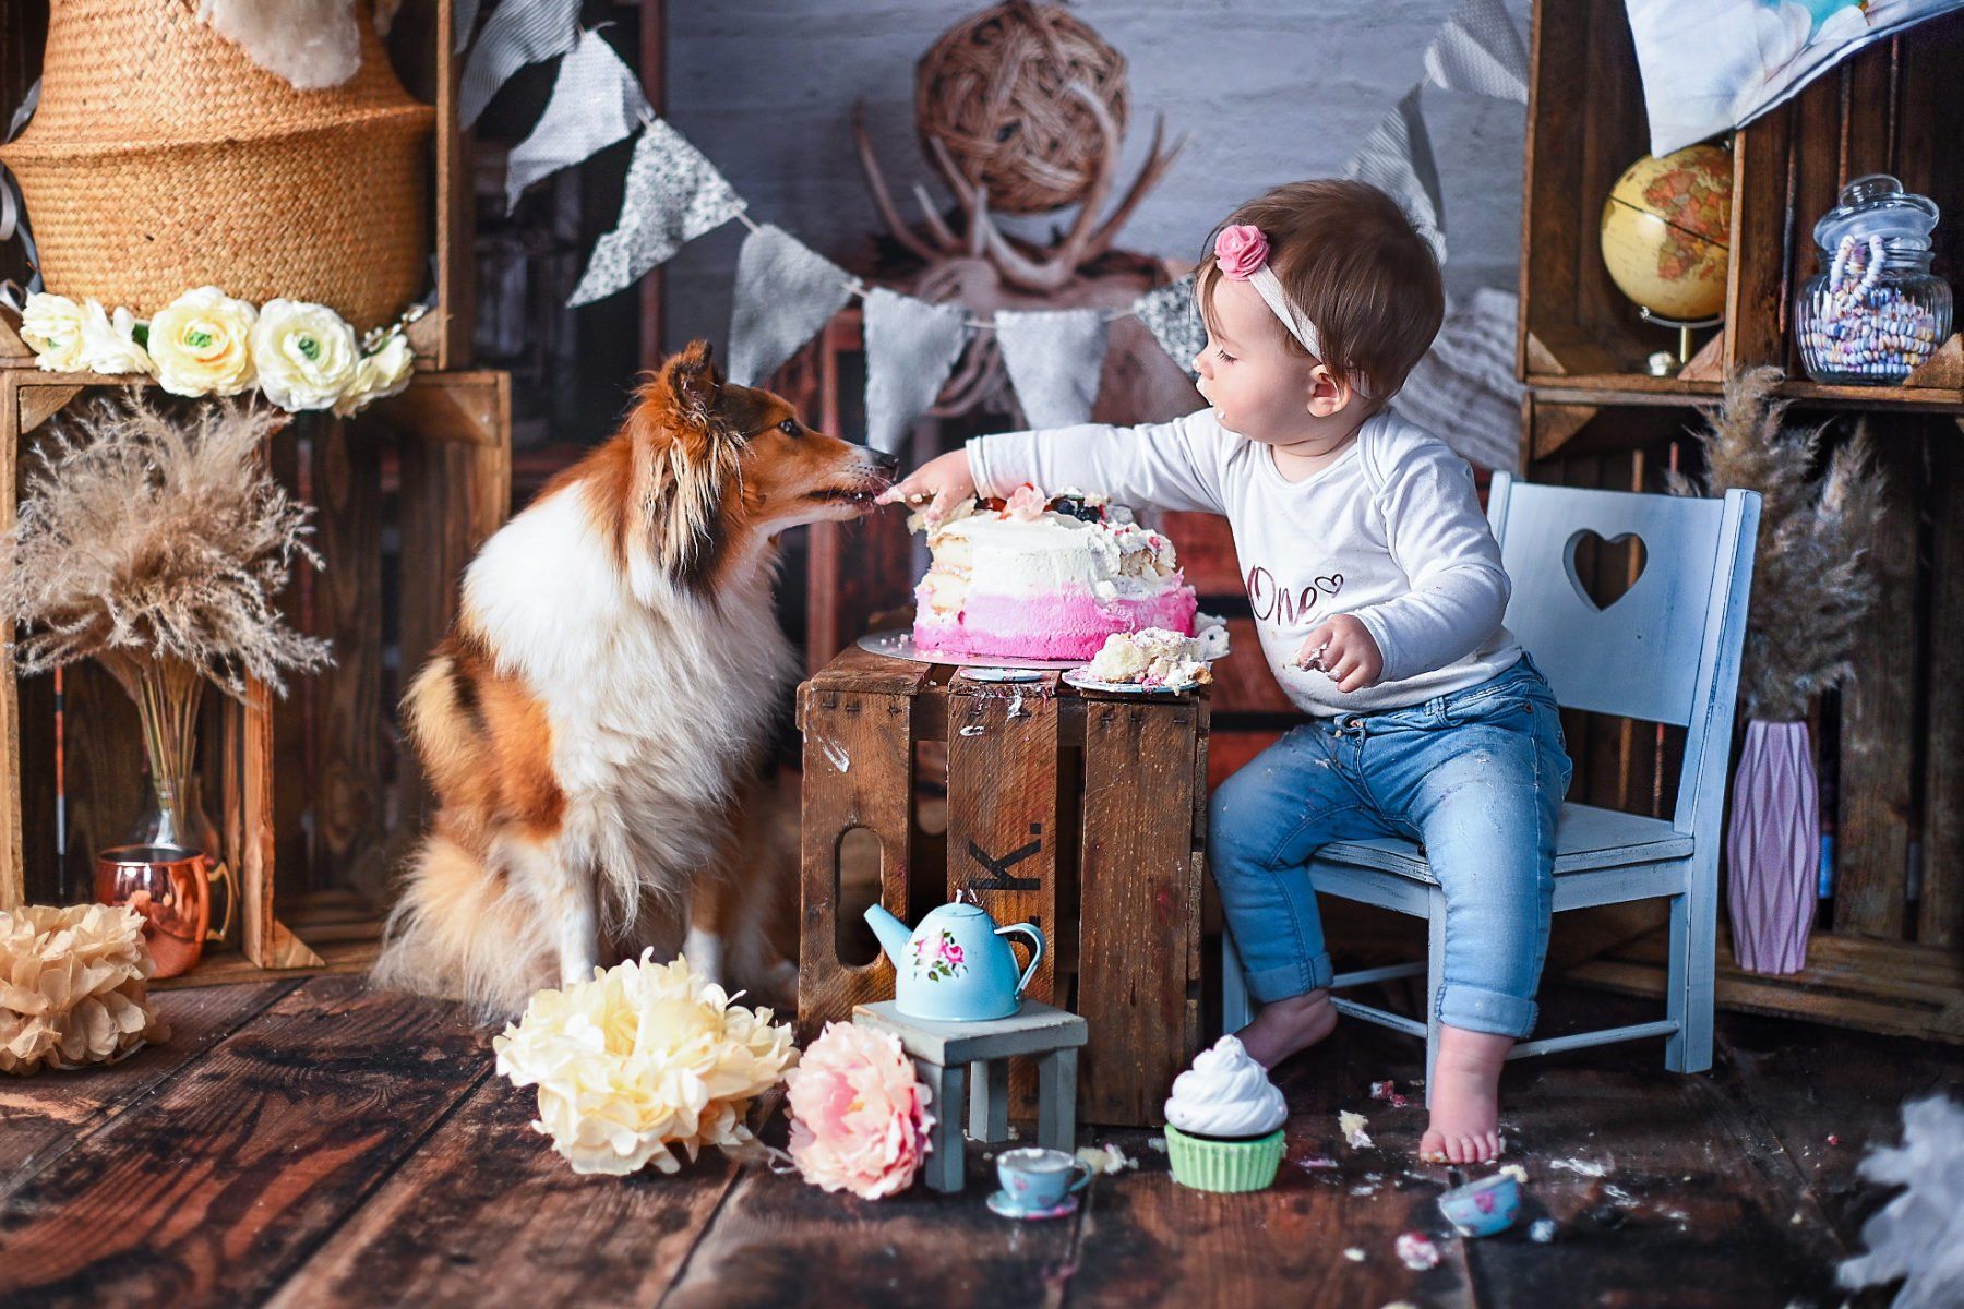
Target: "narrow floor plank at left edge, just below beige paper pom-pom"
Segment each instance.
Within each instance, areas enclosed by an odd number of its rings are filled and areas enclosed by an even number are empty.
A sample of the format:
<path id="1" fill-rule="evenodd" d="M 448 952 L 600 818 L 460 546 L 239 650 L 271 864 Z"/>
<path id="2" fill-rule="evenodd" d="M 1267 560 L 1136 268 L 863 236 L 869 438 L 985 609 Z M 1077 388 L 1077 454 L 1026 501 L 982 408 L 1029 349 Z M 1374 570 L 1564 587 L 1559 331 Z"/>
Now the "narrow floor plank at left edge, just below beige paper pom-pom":
<path id="1" fill-rule="evenodd" d="M 297 981 L 259 981 L 153 997 L 171 1040 L 122 1064 L 41 1072 L 0 1081 L 0 1197 L 24 1187 L 67 1150 L 224 1040 Z"/>

